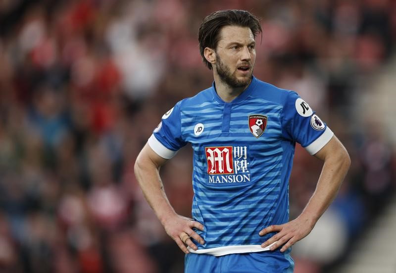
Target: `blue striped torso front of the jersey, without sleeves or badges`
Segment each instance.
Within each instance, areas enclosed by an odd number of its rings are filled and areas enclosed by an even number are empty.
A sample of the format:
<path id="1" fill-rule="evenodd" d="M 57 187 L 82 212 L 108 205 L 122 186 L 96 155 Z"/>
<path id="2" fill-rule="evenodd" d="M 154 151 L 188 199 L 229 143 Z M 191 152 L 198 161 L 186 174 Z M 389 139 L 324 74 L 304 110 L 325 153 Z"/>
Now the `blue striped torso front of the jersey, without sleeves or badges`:
<path id="1" fill-rule="evenodd" d="M 262 243 L 258 232 L 271 224 L 280 196 L 282 106 L 261 98 L 232 105 L 229 132 L 222 132 L 224 108 L 204 102 L 180 112 L 182 135 L 194 150 L 192 214 L 205 226 L 204 248 Z M 250 114 L 267 116 L 265 137 L 256 139 L 250 132 Z M 197 117 L 204 125 L 199 137 Z M 231 147 L 233 173 L 208 174 L 207 147 Z M 246 168 L 238 172 L 236 164 Z"/>

